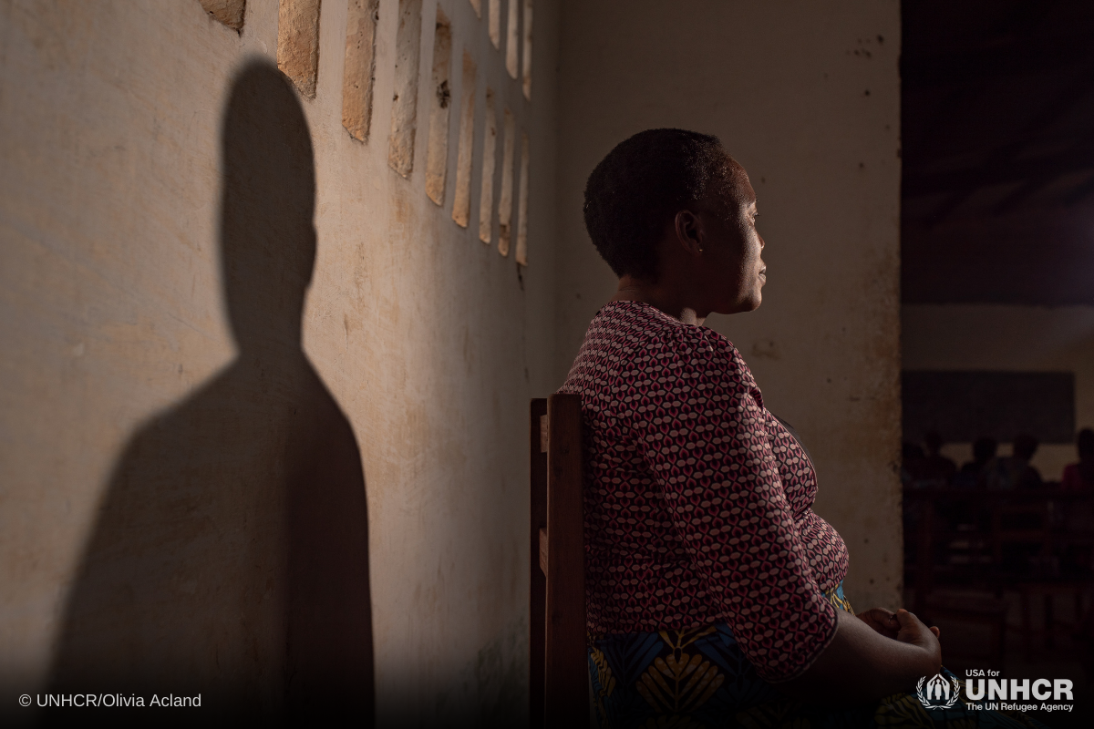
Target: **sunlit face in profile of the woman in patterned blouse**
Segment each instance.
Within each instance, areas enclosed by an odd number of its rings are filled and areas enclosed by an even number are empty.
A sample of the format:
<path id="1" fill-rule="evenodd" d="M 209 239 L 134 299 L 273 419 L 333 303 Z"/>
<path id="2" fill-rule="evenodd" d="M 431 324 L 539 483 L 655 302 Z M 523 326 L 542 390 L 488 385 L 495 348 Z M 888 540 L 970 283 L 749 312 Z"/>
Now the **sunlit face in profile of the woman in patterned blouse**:
<path id="1" fill-rule="evenodd" d="M 754 310 L 767 282 L 764 238 L 756 230 L 756 192 L 744 167 L 730 164 L 735 168 L 731 192 L 699 212 L 706 233 L 700 285 L 710 310 L 718 314 Z"/>

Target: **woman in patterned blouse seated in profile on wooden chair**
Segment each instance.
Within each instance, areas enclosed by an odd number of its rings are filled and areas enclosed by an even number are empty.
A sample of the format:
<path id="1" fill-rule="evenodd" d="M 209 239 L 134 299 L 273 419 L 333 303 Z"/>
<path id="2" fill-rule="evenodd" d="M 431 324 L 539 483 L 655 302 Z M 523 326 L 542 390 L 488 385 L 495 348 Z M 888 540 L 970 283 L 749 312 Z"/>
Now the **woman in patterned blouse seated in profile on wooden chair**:
<path id="1" fill-rule="evenodd" d="M 847 548 L 811 508 L 808 452 L 764 408 L 741 353 L 702 326 L 760 304 L 745 171 L 714 137 L 644 131 L 593 171 L 584 213 L 619 275 L 561 390 L 582 397 L 602 724 L 1008 726 L 900 693 L 941 670 L 936 628 L 903 610 L 851 612 Z"/>

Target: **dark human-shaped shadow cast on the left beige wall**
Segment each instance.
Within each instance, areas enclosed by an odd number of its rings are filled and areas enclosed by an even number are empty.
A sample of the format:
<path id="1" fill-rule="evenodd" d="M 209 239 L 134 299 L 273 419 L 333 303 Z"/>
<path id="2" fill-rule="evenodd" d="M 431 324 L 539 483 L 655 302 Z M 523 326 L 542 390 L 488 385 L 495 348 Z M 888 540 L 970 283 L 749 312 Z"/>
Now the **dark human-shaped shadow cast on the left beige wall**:
<path id="1" fill-rule="evenodd" d="M 198 714 L 156 724 L 337 714 L 371 725 L 364 475 L 301 346 L 315 169 L 303 109 L 275 67 L 238 73 L 221 141 L 238 356 L 125 449 L 67 605 L 54 690 L 202 694 Z"/>

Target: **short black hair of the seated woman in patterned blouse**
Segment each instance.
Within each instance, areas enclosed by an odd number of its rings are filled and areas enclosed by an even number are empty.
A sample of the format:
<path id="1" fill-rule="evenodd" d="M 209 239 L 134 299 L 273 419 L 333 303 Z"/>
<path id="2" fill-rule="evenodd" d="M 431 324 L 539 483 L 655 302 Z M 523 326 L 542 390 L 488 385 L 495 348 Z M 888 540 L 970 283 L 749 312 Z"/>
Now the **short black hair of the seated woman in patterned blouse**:
<path id="1" fill-rule="evenodd" d="M 653 280 L 665 223 L 711 189 L 732 189 L 721 140 L 685 129 L 649 129 L 620 142 L 585 184 L 585 230 L 616 275 Z"/>

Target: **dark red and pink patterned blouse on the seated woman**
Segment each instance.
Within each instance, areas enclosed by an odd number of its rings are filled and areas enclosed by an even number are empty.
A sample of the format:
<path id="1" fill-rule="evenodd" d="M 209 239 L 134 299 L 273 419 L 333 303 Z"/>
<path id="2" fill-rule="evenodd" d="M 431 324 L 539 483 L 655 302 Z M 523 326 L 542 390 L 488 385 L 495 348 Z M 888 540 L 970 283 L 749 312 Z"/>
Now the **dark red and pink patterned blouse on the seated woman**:
<path id="1" fill-rule="evenodd" d="M 582 396 L 590 633 L 724 622 L 765 680 L 805 671 L 835 635 L 824 591 L 847 548 L 733 344 L 613 302 L 560 391 Z"/>

